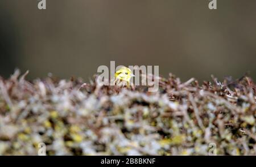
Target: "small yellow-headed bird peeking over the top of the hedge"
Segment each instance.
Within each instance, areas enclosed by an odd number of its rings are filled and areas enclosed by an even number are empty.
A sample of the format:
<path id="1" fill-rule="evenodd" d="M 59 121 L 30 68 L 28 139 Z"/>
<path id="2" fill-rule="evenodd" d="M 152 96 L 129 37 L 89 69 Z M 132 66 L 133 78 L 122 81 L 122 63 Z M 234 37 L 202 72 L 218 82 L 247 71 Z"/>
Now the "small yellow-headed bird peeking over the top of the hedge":
<path id="1" fill-rule="evenodd" d="M 130 68 L 125 66 L 115 71 L 115 84 L 117 85 L 130 85 L 130 79 L 135 76 Z"/>

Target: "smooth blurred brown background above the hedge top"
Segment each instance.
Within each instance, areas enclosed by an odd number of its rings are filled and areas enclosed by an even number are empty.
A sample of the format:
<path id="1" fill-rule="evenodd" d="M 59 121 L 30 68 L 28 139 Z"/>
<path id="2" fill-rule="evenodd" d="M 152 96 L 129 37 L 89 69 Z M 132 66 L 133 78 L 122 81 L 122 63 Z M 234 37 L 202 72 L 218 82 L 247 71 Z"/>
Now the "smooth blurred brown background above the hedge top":
<path id="1" fill-rule="evenodd" d="M 160 74 L 256 80 L 256 1 L 0 1 L 0 75 L 81 76 L 100 65 L 159 65 Z"/>

